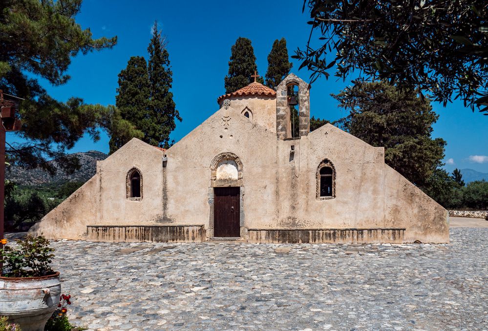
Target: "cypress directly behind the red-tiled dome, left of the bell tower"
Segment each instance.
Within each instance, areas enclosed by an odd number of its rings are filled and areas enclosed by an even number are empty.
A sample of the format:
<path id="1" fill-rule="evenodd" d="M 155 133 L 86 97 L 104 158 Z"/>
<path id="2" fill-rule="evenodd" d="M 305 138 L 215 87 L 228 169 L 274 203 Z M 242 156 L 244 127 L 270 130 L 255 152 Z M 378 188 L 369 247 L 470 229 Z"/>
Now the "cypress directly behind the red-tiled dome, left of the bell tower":
<path id="1" fill-rule="evenodd" d="M 225 93 L 232 93 L 254 82 L 251 76 L 257 72 L 256 57 L 251 41 L 239 37 L 231 47 L 229 74 L 224 79 Z M 263 83 L 259 77 L 257 82 Z"/>

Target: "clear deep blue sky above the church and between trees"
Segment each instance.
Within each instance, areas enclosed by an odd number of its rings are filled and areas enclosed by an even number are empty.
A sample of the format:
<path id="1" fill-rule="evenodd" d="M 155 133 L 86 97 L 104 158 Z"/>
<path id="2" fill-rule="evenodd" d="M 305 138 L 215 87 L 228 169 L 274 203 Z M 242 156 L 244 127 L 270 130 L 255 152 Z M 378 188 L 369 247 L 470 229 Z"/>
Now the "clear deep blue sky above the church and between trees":
<path id="1" fill-rule="evenodd" d="M 278 4 L 279 3 L 279 4 Z M 178 141 L 218 109 L 217 97 L 224 94 L 231 46 L 238 37 L 251 39 L 259 74 L 264 76 L 267 56 L 275 39 L 284 37 L 290 56 L 306 44 L 310 33 L 307 14 L 301 13 L 302 1 L 101 1 L 84 0 L 76 21 L 90 28 L 95 38 L 118 36 L 111 50 L 78 55 L 63 86 L 49 86 L 48 92 L 59 100 L 81 97 L 86 103 L 115 103 L 117 75 L 131 56 L 145 56 L 151 26 L 157 20 L 168 38 L 173 71 L 173 95 L 183 118 L 171 138 Z M 292 72 L 307 80 L 306 69 L 298 71 L 292 60 Z M 350 84 L 336 78 L 320 79 L 310 91 L 311 115 L 337 120 L 345 115 L 330 93 Z M 472 168 L 488 172 L 488 116 L 465 108 L 462 102 L 446 107 L 434 103 L 440 115 L 434 137 L 447 141 L 446 169 Z M 8 133 L 7 140 L 15 140 Z M 108 137 L 93 143 L 88 136 L 71 152 L 100 150 L 108 152 Z"/>

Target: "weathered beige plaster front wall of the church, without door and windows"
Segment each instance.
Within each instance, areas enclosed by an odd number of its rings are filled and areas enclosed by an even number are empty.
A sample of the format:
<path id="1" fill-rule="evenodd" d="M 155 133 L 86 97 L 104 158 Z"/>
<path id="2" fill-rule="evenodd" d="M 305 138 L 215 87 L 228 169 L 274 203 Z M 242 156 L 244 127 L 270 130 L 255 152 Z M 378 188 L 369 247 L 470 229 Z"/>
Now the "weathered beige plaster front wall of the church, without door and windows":
<path id="1" fill-rule="evenodd" d="M 31 232 L 79 239 L 87 225 L 172 224 L 203 225 L 212 237 L 213 187 L 240 186 L 245 239 L 249 228 L 297 228 L 303 235 L 317 228 L 404 228 L 404 242 L 449 241 L 447 211 L 385 165 L 382 147 L 331 124 L 300 139 L 280 139 L 276 102 L 258 96 L 231 100 L 228 109 L 219 109 L 166 152 L 132 139 L 99 162 L 97 175 Z M 247 106 L 252 119 L 241 113 Z M 261 121 L 259 114 L 274 120 Z M 317 199 L 317 169 L 324 160 L 335 169 L 335 195 Z M 133 167 L 144 177 L 140 201 L 126 197 L 127 171 Z M 375 238 L 364 241 L 400 240 Z"/>

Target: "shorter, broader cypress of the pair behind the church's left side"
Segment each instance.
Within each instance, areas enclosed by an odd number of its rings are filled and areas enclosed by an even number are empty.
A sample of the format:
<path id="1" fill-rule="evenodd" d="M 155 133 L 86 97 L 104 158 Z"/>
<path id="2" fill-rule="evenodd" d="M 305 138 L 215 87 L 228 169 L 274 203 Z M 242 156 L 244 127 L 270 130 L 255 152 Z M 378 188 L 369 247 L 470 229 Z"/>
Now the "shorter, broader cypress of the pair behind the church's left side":
<path id="1" fill-rule="evenodd" d="M 149 124 L 149 77 L 146 59 L 142 56 L 133 56 L 127 62 L 127 67 L 119 74 L 118 95 L 115 104 L 123 120 L 135 125 L 143 132 L 142 139 L 150 140 L 146 126 Z M 127 143 L 132 137 L 112 135 L 109 146 L 110 153 Z"/>

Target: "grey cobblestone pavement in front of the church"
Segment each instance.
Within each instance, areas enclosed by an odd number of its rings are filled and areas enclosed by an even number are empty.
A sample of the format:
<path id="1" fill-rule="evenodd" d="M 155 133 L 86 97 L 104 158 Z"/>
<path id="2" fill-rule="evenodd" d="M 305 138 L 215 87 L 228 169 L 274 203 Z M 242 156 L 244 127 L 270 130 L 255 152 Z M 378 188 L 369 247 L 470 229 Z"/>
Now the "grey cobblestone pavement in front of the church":
<path id="1" fill-rule="evenodd" d="M 90 330 L 488 330 L 488 228 L 450 245 L 53 242 Z"/>

